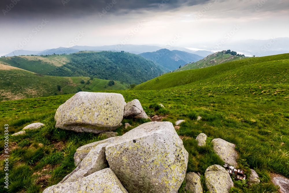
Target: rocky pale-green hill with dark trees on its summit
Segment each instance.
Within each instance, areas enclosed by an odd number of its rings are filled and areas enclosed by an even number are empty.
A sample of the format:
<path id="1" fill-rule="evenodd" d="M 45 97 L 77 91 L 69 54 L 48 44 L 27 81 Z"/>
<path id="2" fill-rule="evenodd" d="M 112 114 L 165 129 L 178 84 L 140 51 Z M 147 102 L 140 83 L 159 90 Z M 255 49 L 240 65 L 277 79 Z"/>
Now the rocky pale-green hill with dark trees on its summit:
<path id="1" fill-rule="evenodd" d="M 190 70 L 190 69 L 198 69 L 198 68 L 205 68 L 205 67 L 210 67 L 234 60 L 240 60 L 245 58 L 245 56 L 234 56 L 231 54 L 226 54 L 226 51 L 222 52 L 216 52 L 214 54 L 210 54 L 209 56 L 206 56 L 202 60 L 199 60 L 195 63 L 189 63 L 184 65 L 183 67 L 174 70 L 173 72 L 179 72 L 183 70 Z"/>

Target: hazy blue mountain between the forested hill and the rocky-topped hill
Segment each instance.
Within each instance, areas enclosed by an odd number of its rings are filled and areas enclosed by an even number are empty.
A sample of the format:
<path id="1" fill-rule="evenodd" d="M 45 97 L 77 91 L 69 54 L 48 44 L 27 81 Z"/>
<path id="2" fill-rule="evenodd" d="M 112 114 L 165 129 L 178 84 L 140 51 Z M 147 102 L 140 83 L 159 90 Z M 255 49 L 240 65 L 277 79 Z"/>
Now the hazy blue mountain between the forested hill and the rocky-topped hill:
<path id="1" fill-rule="evenodd" d="M 162 65 L 170 71 L 189 62 L 195 62 L 203 58 L 197 54 L 191 54 L 179 50 L 171 51 L 168 49 L 160 49 L 156 52 L 145 52 L 139 55 Z"/>

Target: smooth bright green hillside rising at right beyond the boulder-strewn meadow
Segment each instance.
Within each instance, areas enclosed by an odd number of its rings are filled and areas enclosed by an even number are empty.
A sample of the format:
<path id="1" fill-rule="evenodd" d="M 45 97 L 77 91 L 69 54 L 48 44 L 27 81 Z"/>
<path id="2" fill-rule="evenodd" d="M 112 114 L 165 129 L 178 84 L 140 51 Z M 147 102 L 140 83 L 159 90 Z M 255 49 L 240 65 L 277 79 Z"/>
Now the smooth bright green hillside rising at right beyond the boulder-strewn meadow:
<path id="1" fill-rule="evenodd" d="M 288 82 L 289 54 L 244 58 L 203 69 L 167 73 L 134 87 L 134 90 L 160 90 L 189 83 L 262 84 Z"/>

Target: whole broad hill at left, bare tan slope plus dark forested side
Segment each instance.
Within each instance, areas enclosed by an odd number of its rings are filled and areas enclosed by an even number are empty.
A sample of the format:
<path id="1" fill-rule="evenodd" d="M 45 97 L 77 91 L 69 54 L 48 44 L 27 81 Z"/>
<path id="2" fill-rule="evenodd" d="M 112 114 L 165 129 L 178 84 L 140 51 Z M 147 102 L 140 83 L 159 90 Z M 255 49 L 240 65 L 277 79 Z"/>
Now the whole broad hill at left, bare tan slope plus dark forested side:
<path id="1" fill-rule="evenodd" d="M 165 72 L 159 65 L 136 54 L 109 51 L 84 51 L 61 56 L 13 56 L 0 58 L 0 62 L 42 75 L 97 76 L 134 84 Z"/>

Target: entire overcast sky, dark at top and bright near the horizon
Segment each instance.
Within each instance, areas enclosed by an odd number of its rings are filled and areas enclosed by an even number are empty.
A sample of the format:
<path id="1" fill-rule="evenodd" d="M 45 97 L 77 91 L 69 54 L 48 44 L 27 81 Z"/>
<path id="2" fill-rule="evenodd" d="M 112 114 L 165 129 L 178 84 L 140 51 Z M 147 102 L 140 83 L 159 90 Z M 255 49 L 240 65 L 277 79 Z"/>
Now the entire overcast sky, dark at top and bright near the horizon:
<path id="1" fill-rule="evenodd" d="M 17 48 L 173 39 L 174 46 L 194 47 L 289 37 L 288 0 L 1 0 L 0 8 L 1 55 Z"/>

